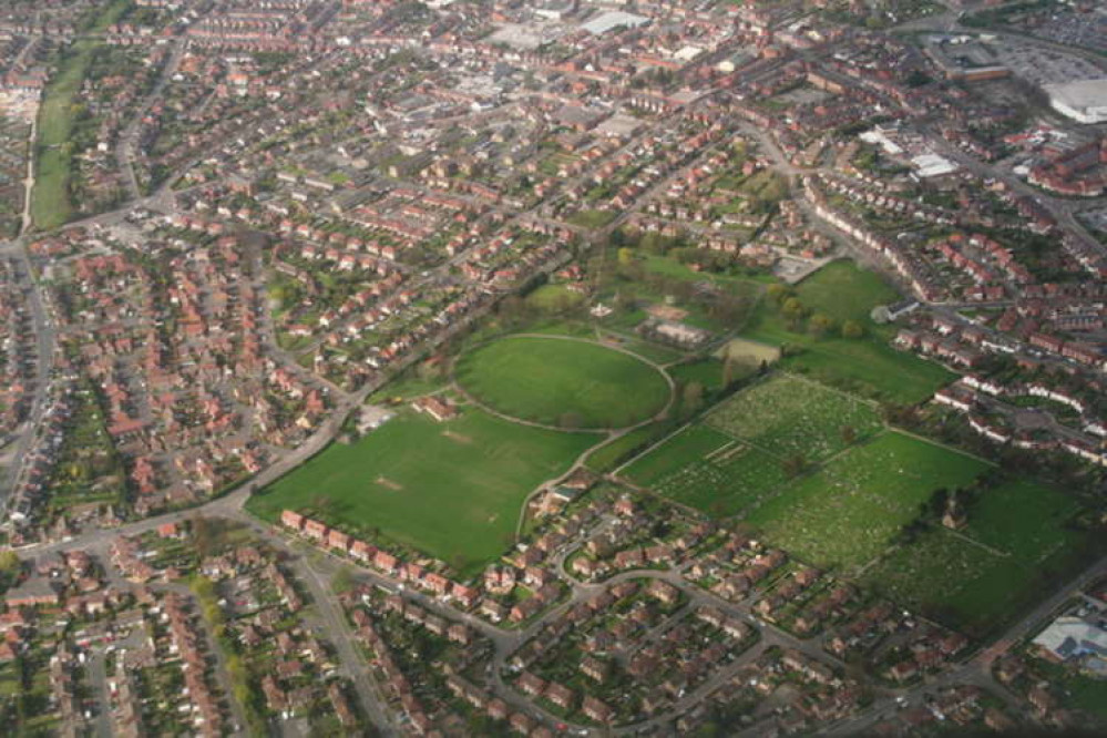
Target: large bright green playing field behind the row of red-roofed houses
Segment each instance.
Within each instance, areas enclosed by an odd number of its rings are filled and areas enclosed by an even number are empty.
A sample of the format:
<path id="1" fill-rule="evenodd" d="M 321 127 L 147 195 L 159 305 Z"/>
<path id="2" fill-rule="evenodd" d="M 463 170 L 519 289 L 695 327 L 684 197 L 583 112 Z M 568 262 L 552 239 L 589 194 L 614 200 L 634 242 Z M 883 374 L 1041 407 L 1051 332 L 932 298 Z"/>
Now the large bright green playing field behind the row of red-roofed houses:
<path id="1" fill-rule="evenodd" d="M 357 443 L 331 444 L 247 506 L 270 521 L 315 509 L 350 533 L 377 532 L 468 575 L 509 547 L 524 498 L 595 442 L 479 410 L 444 423 L 404 412 Z"/>

